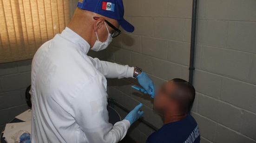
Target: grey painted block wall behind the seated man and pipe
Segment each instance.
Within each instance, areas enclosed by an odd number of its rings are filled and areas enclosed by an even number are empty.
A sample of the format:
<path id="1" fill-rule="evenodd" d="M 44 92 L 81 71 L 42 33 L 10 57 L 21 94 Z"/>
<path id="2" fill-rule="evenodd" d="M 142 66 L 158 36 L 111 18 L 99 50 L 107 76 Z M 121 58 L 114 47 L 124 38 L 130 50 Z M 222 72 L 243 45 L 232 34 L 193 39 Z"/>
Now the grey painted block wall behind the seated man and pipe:
<path id="1" fill-rule="evenodd" d="M 133 33 L 121 29 L 107 49 L 110 62 L 143 68 L 158 86 L 188 80 L 192 0 L 123 0 Z M 201 143 L 256 143 L 256 1 L 198 0 L 191 114 Z M 109 96 L 129 110 L 143 103 L 143 118 L 160 128 L 153 100 L 131 89 L 134 79 L 109 79 Z M 122 118 L 127 113 L 117 108 Z M 133 124 L 128 135 L 144 143 L 152 132 Z M 144 125 L 144 124 L 143 124 Z"/>

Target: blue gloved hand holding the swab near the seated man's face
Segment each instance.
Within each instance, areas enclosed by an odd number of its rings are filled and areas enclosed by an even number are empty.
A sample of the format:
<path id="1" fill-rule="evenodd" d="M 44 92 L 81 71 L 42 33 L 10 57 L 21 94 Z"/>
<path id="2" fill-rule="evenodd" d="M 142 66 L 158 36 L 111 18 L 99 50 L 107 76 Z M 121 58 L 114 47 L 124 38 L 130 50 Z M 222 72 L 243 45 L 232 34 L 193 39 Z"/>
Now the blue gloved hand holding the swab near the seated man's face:
<path id="1" fill-rule="evenodd" d="M 137 76 L 137 79 L 138 83 L 146 90 L 146 92 L 150 94 L 152 98 L 154 98 L 155 87 L 151 78 L 149 78 L 148 75 L 142 71 L 141 74 Z"/>

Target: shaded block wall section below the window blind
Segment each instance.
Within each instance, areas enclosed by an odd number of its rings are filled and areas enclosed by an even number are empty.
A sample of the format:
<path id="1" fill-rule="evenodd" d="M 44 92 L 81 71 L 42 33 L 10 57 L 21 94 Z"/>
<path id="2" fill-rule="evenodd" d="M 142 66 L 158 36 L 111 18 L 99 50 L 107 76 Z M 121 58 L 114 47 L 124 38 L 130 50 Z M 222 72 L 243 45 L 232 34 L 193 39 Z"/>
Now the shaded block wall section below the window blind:
<path id="1" fill-rule="evenodd" d="M 25 92 L 31 85 L 31 62 L 24 60 L 0 64 L 0 131 L 15 116 L 29 109 Z"/>

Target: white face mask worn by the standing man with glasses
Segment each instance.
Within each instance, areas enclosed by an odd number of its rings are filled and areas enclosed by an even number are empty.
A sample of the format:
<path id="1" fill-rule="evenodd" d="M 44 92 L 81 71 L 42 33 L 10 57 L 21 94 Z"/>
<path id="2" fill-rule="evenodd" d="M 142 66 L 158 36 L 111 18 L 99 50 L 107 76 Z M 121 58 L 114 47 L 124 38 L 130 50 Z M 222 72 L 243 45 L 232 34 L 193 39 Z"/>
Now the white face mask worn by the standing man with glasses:
<path id="1" fill-rule="evenodd" d="M 106 23 L 105 23 L 106 25 Z M 107 25 L 106 25 L 106 28 L 107 28 Z M 107 28 L 107 31 L 108 31 L 108 28 Z M 98 35 L 97 35 L 97 32 L 95 31 L 96 33 L 96 36 L 97 36 L 97 39 L 98 39 Z M 94 50 L 94 51 L 100 51 L 100 50 L 104 50 L 107 48 L 107 46 L 112 42 L 112 34 L 109 33 L 108 31 L 108 37 L 107 37 L 107 40 L 105 42 L 100 42 L 99 40 L 97 40 L 95 42 L 95 44 L 93 45 L 92 49 L 91 50 Z"/>

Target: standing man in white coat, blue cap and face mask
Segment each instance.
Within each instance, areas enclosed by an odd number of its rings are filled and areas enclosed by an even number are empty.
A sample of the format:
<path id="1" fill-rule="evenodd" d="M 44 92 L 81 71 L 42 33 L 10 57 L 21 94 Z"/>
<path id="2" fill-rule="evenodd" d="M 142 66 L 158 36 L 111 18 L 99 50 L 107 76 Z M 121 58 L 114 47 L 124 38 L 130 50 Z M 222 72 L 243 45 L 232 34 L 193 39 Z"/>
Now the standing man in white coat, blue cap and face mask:
<path id="1" fill-rule="evenodd" d="M 140 69 L 87 56 L 103 50 L 119 25 L 132 32 L 122 0 L 80 0 L 70 25 L 43 44 L 32 62 L 33 143 L 117 143 L 143 111 L 108 123 L 106 78 L 137 78 L 154 96 L 152 80 Z M 139 59 L 138 59 L 139 60 Z"/>

